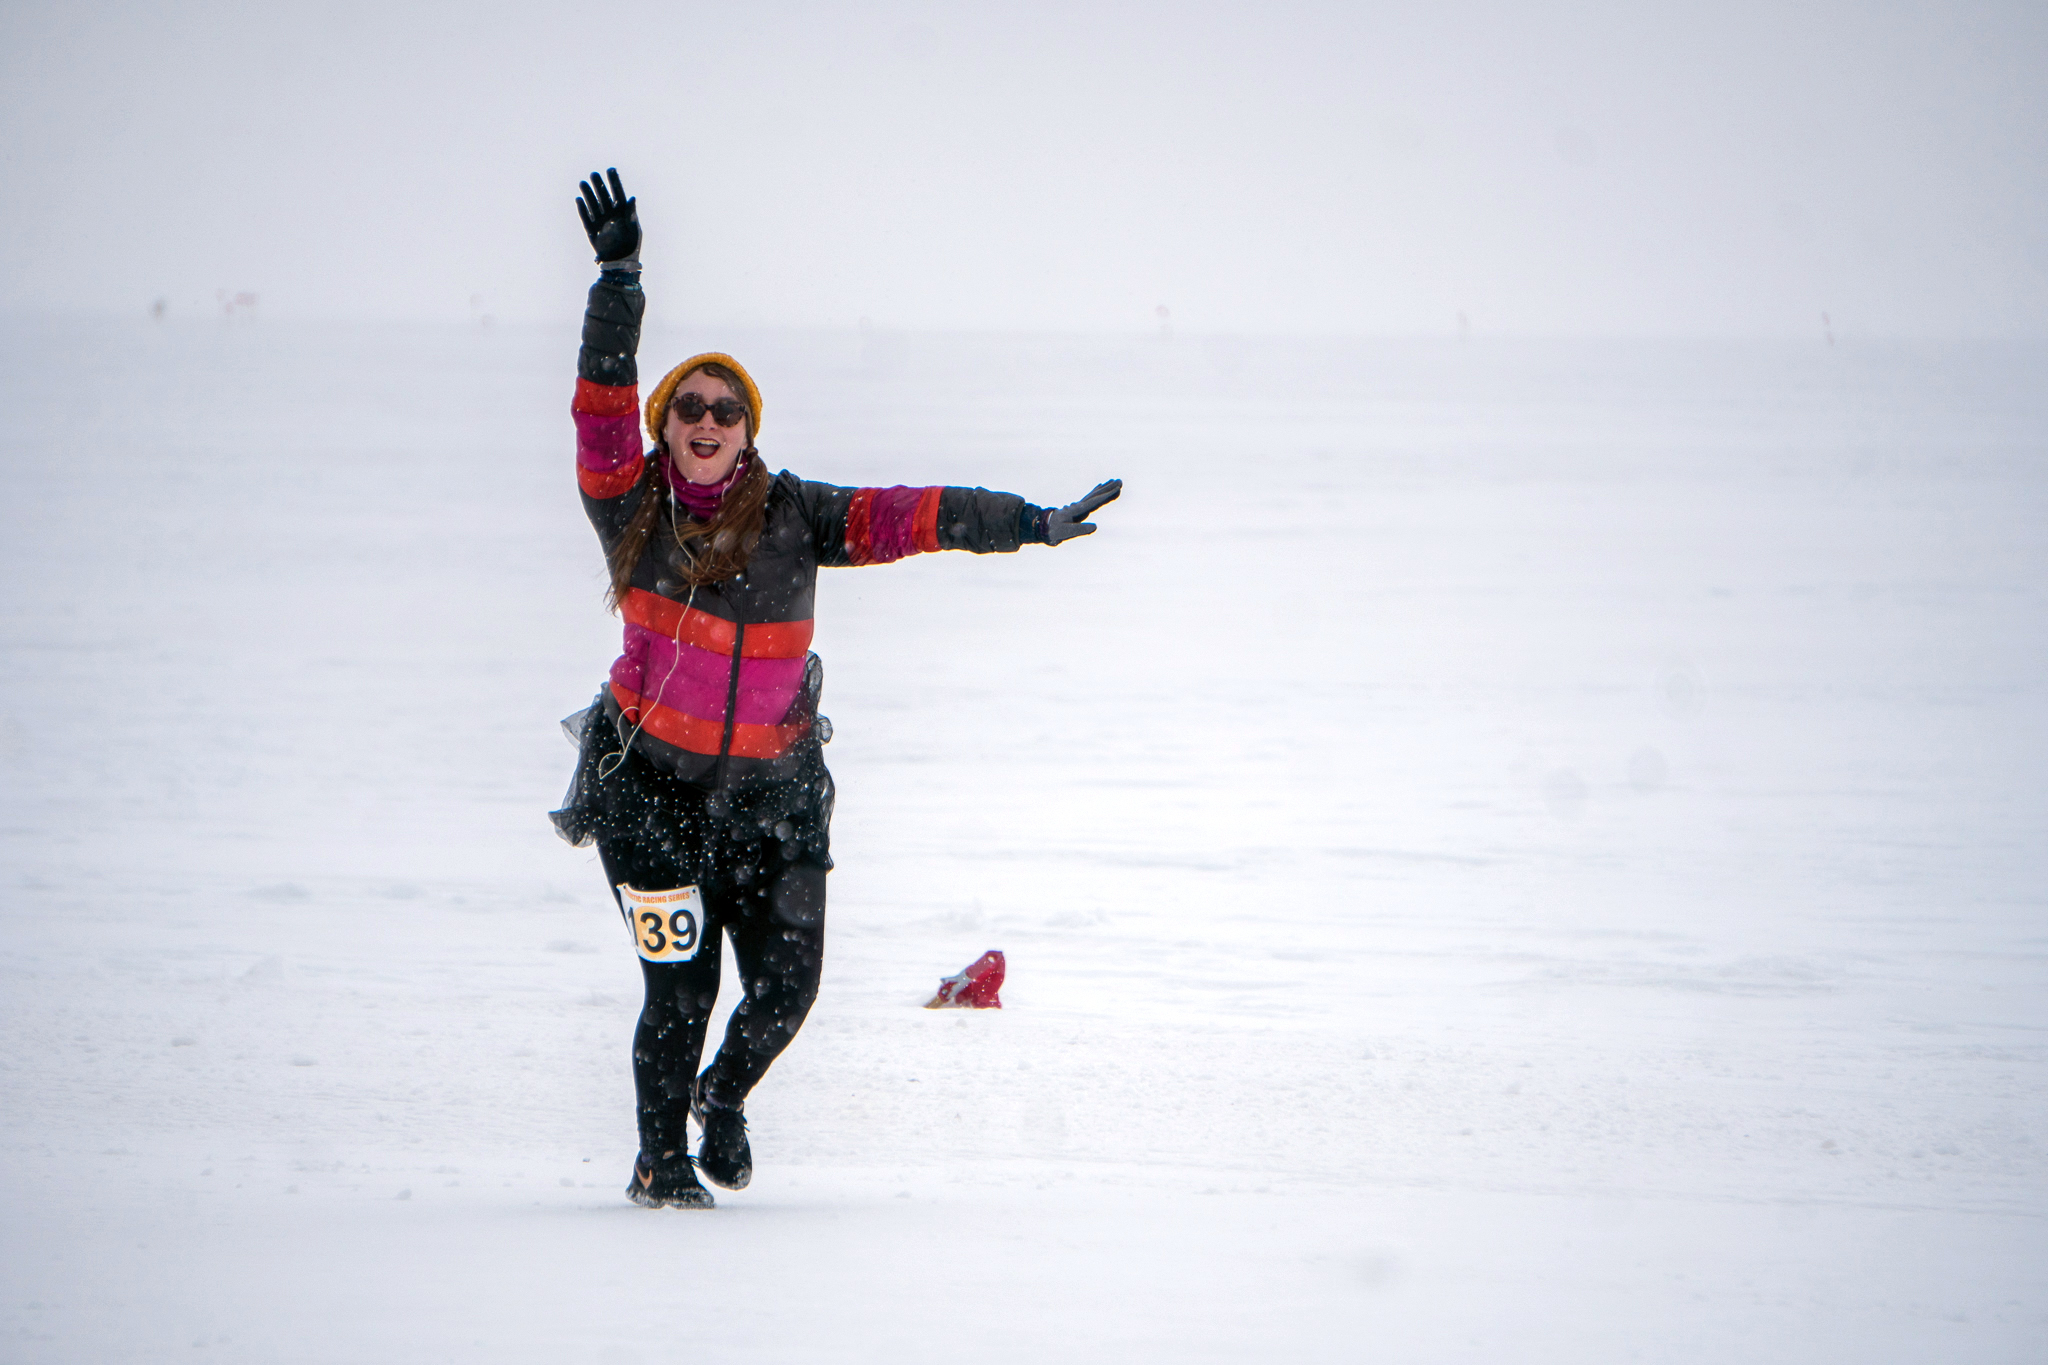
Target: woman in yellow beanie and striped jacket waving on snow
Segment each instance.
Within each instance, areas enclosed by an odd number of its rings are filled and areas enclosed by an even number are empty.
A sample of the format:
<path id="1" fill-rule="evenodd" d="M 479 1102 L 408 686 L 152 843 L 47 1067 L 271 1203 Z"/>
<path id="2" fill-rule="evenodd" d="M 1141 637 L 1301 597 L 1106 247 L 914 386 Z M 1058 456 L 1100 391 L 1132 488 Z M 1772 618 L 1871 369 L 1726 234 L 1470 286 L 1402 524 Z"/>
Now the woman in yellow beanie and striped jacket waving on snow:
<path id="1" fill-rule="evenodd" d="M 672 368 L 639 403 L 641 229 L 618 172 L 578 199 L 598 254 L 575 379 L 575 477 L 610 565 L 625 653 L 590 708 L 555 827 L 596 843 L 647 982 L 633 1033 L 639 1158 L 627 1195 L 711 1207 L 754 1173 L 743 1105 L 817 999 L 831 870 L 831 774 L 811 645 L 819 565 L 924 551 L 1008 553 L 1096 530 L 1112 479 L 1067 508 L 950 487 L 846 489 L 770 475 L 762 395 L 725 354 Z M 647 424 L 651 450 L 635 424 Z M 745 997 L 696 1072 L 721 933 Z M 686 1121 L 702 1144 L 692 1158 Z"/>

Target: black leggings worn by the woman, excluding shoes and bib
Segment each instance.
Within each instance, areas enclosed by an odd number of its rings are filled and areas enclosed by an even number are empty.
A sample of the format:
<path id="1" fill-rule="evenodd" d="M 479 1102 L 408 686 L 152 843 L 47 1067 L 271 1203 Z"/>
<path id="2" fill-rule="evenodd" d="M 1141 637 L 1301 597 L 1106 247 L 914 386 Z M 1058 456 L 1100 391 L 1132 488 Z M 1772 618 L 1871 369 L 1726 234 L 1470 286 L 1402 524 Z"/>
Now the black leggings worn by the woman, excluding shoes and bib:
<path id="1" fill-rule="evenodd" d="M 598 857 L 614 898 L 618 882 L 635 890 L 688 884 L 672 857 L 637 839 L 600 839 Z M 641 1152 L 649 1156 L 682 1150 L 688 1142 L 690 1085 L 705 1052 L 711 1007 L 719 999 L 719 929 L 733 939 L 745 993 L 725 1023 L 719 1054 L 711 1058 L 705 1091 L 713 1103 L 741 1103 L 803 1027 L 817 999 L 825 958 L 825 870 L 778 864 L 774 857 L 764 862 L 770 866 L 741 868 L 737 884 L 705 890 L 709 923 L 694 960 L 641 960 L 647 1003 L 633 1031 L 633 1089 L 639 1095 Z"/>

